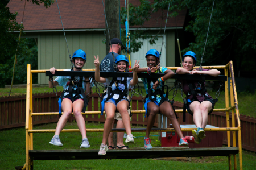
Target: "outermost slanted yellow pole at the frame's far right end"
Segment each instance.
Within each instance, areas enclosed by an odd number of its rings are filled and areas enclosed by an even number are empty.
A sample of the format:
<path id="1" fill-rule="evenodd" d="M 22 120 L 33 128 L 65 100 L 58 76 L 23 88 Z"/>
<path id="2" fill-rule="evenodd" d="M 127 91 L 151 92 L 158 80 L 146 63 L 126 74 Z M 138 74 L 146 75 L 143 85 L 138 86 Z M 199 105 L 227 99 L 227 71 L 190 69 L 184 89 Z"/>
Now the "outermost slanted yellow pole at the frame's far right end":
<path id="1" fill-rule="evenodd" d="M 241 135 L 240 114 L 239 114 L 238 100 L 237 100 L 237 89 L 236 89 L 236 82 L 235 82 L 235 79 L 234 79 L 233 61 L 230 61 L 229 65 L 230 65 L 230 72 L 231 72 L 232 86 L 233 86 L 234 105 L 235 105 L 235 108 L 236 108 L 237 124 L 238 124 L 239 167 L 240 167 L 240 170 L 242 170 L 243 169 L 243 161 L 242 161 L 242 135 Z"/>

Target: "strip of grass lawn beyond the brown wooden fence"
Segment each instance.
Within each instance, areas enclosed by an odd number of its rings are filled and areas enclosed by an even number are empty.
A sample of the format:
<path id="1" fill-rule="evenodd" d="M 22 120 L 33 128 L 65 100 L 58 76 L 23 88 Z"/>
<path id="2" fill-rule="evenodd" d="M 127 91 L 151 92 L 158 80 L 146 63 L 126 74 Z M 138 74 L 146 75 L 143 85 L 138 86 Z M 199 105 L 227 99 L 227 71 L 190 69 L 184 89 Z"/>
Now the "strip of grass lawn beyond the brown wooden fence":
<path id="1" fill-rule="evenodd" d="M 103 92 L 104 88 L 101 86 L 98 86 L 100 88 L 100 92 Z M 143 96 L 146 96 L 146 91 L 143 86 L 140 86 L 143 92 Z M 143 88 L 142 88 L 143 87 Z M 57 86 L 57 90 L 61 91 L 63 90 L 62 87 Z M 0 97 L 2 96 L 8 96 L 9 95 L 9 88 L 0 88 Z M 47 92 L 53 92 L 52 88 L 33 88 L 33 93 L 47 93 Z M 96 90 L 93 88 L 93 93 L 95 93 Z M 136 92 L 138 93 L 138 89 L 136 89 Z M 169 94 L 169 99 L 172 99 L 172 92 Z M 139 97 L 139 95 L 135 93 L 134 95 Z M 208 92 L 210 96 L 215 98 L 216 91 Z M 21 94 L 26 94 L 26 88 L 13 88 L 11 95 L 21 95 Z M 254 109 L 254 103 L 256 103 L 256 92 L 254 93 L 249 93 L 249 92 L 238 92 L 237 93 L 237 98 L 238 98 L 238 107 L 240 114 L 243 115 L 250 115 L 250 117 L 256 118 L 256 110 Z M 183 102 L 181 98 L 181 90 L 177 90 L 177 96 L 174 98 L 175 101 Z M 218 102 L 215 105 L 215 108 L 225 108 L 225 92 L 224 90 L 221 91 L 220 97 L 218 97 Z M 230 101 L 229 101 L 230 105 Z"/>

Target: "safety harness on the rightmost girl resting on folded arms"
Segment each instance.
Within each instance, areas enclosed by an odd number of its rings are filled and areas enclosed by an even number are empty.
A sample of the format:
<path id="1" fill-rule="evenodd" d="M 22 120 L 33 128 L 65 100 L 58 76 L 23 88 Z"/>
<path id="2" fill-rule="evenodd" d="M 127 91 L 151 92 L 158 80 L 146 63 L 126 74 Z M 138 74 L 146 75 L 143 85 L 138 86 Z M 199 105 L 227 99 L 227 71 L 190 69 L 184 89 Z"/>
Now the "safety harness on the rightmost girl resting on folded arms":
<path id="1" fill-rule="evenodd" d="M 204 78 L 204 76 L 203 76 L 203 78 Z M 208 94 L 206 93 L 207 90 L 205 89 L 205 86 L 204 86 L 204 84 L 205 84 L 204 80 L 203 81 L 199 81 L 197 86 L 191 80 L 190 81 L 184 80 L 184 81 L 187 82 L 188 87 L 190 89 L 190 93 L 188 92 L 188 94 L 186 94 L 186 97 L 183 98 L 183 101 L 184 101 L 184 105 L 183 105 L 183 122 L 185 122 L 185 119 L 186 119 L 186 109 L 188 110 L 189 114 L 193 115 L 193 112 L 190 110 L 189 105 L 193 101 L 198 101 L 197 97 L 196 97 L 197 94 L 204 95 L 205 100 L 211 99 L 211 98 L 208 97 Z M 183 89 L 181 88 L 181 92 L 182 91 L 183 91 Z M 191 95 L 192 95 L 192 99 L 190 100 L 190 99 L 188 99 L 188 97 L 191 96 Z M 208 115 L 210 113 L 212 113 L 216 102 L 218 102 L 217 98 L 216 99 L 212 99 L 213 105 L 212 105 L 212 109 L 209 111 Z"/>

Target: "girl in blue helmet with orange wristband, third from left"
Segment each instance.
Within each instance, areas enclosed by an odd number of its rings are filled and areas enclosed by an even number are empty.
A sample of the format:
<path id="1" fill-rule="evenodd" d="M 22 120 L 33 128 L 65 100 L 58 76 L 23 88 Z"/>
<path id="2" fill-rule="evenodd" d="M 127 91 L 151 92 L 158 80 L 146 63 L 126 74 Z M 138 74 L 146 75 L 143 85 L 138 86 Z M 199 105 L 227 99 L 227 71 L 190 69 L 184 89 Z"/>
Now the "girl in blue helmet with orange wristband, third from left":
<path id="1" fill-rule="evenodd" d="M 151 73 L 165 74 L 163 77 L 158 79 L 141 78 L 147 93 L 144 104 L 146 115 L 148 116 L 147 130 L 144 138 L 144 148 L 146 150 L 151 150 L 152 148 L 149 135 L 151 128 L 154 125 L 155 117 L 159 112 L 165 115 L 172 122 L 172 126 L 180 137 L 179 146 L 188 146 L 187 140 L 183 137 L 174 109 L 169 102 L 168 92 L 167 94 L 164 93 L 164 81 L 174 76 L 174 72 L 172 72 L 170 69 L 160 67 L 158 63 L 159 56 L 159 52 L 156 49 L 150 49 L 145 56 L 148 68 L 138 69 L 138 73 L 147 72 L 150 75 Z"/>

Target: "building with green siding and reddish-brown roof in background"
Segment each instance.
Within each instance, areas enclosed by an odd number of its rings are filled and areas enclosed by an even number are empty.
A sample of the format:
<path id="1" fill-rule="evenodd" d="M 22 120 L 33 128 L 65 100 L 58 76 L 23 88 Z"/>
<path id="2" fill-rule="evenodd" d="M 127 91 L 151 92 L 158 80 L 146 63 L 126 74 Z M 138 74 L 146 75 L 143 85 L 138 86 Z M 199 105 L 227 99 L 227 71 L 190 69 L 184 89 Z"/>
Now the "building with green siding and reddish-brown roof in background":
<path id="1" fill-rule="evenodd" d="M 139 5 L 139 1 L 131 0 L 133 5 Z M 16 20 L 22 20 L 24 10 L 24 1 L 10 1 L 7 5 L 11 13 L 18 12 Z M 121 7 L 124 7 L 124 2 Z M 51 7 L 44 7 L 26 3 L 26 10 L 23 18 L 24 34 L 22 38 L 34 38 L 38 45 L 38 69 L 56 69 L 70 68 L 68 49 L 71 56 L 77 49 L 83 49 L 87 55 L 87 61 L 84 68 L 94 68 L 93 55 L 99 55 L 100 60 L 105 57 L 105 44 L 102 43 L 105 39 L 105 16 L 102 3 L 100 0 L 94 1 L 60 1 L 59 2 L 61 18 L 65 28 L 67 44 L 65 42 L 60 16 L 56 3 Z M 159 14 L 160 15 L 160 14 Z M 161 66 L 172 67 L 175 65 L 177 56 L 176 29 L 181 30 L 184 27 L 186 11 L 180 11 L 176 18 L 169 18 L 167 22 L 166 36 L 162 49 Z M 156 15 L 152 16 L 150 21 L 144 23 L 142 29 L 150 31 L 155 35 L 160 30 L 160 22 L 156 21 Z M 131 53 L 131 63 L 135 60 L 141 60 L 141 67 L 146 67 L 144 55 L 148 49 L 157 49 L 160 51 L 163 38 L 164 22 L 162 23 L 162 35 L 156 44 L 150 45 L 147 40 L 143 41 L 142 48 Z M 122 26 L 123 27 L 123 26 Z M 111 28 L 110 28 L 111 29 Z M 130 28 L 133 30 L 136 28 Z M 125 44 L 125 41 L 122 41 Z M 44 74 L 38 75 L 38 84 L 48 84 L 48 77 Z"/>

